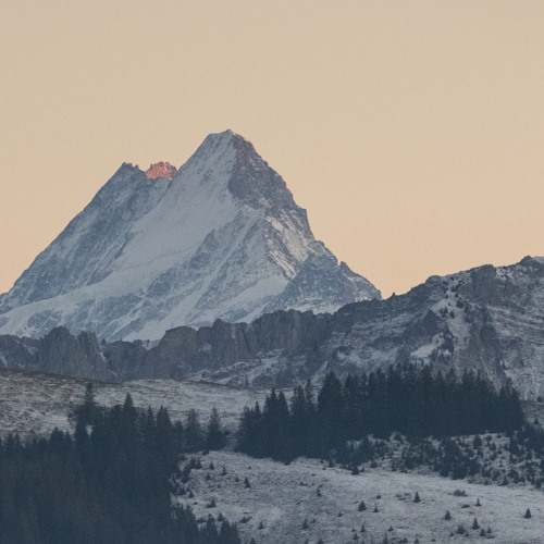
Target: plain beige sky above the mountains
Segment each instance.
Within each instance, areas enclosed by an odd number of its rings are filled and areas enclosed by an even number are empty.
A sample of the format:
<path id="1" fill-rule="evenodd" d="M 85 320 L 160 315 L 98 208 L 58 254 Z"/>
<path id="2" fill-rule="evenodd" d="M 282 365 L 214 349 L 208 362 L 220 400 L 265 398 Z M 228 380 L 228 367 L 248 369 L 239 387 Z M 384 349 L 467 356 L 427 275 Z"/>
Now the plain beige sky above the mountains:
<path id="1" fill-rule="evenodd" d="M 544 255 L 542 0 L 3 1 L 0 70 L 0 292 L 225 128 L 385 296 Z"/>

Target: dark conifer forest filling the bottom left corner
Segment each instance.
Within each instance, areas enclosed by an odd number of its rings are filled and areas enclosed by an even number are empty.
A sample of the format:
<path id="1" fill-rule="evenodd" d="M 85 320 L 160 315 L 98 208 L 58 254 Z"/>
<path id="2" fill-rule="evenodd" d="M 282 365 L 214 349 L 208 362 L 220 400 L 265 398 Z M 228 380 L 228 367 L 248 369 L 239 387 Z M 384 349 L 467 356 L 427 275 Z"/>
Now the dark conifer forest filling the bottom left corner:
<path id="1" fill-rule="evenodd" d="M 212 440 L 221 441 L 217 413 Z M 89 432 L 89 430 L 92 430 Z M 171 478 L 184 448 L 182 425 L 161 408 L 99 409 L 87 388 L 74 435 L 0 443 L 0 542 L 21 544 L 230 544 L 235 526 L 172 508 Z"/>

